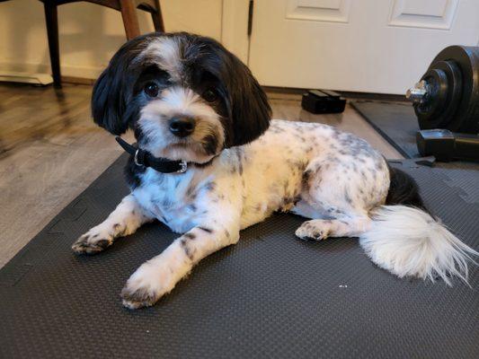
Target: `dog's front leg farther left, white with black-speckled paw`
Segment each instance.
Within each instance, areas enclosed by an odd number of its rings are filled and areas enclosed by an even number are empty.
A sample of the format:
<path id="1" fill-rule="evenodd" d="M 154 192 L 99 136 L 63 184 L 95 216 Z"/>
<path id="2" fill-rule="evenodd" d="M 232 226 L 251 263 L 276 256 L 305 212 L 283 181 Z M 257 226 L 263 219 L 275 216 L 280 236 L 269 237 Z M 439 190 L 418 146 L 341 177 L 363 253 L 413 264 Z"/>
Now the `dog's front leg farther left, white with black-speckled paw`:
<path id="1" fill-rule="evenodd" d="M 111 215 L 102 223 L 80 236 L 72 246 L 77 254 L 94 254 L 111 246 L 115 238 L 137 231 L 143 223 L 153 218 L 146 215 L 133 195 L 124 197 Z"/>

